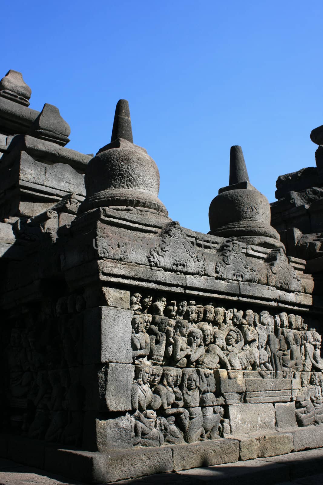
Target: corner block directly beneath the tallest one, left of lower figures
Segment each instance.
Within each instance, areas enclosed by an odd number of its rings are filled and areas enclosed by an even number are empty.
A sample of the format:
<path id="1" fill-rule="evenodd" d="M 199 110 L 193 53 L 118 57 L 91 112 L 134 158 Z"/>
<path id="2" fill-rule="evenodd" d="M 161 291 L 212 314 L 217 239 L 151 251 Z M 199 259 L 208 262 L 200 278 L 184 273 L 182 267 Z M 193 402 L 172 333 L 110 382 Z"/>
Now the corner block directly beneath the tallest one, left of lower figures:
<path id="1" fill-rule="evenodd" d="M 129 411 L 133 376 L 134 369 L 130 364 L 84 366 L 85 410 Z"/>

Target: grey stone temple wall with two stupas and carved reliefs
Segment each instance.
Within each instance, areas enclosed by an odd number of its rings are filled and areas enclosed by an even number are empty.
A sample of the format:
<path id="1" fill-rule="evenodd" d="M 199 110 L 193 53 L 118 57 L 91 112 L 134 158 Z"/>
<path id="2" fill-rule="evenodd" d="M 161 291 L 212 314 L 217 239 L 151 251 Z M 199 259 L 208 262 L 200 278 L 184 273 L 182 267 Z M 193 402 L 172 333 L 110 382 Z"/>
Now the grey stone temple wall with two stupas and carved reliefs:
<path id="1" fill-rule="evenodd" d="M 92 157 L 30 94 L 0 82 L 1 455 L 102 483 L 323 446 L 319 246 L 312 271 L 294 210 L 232 146 L 210 232 L 184 228 L 125 100 Z"/>

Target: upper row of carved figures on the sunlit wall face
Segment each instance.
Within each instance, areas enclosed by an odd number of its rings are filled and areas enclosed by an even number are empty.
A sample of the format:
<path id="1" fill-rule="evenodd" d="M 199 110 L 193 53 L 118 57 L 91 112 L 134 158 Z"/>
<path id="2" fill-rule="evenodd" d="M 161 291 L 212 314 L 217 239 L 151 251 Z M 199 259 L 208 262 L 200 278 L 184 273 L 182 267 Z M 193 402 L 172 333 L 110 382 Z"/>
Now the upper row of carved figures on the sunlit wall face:
<path id="1" fill-rule="evenodd" d="M 261 371 L 323 371 L 321 336 L 300 315 L 237 310 L 212 303 L 131 296 L 134 364 L 178 368 Z"/>

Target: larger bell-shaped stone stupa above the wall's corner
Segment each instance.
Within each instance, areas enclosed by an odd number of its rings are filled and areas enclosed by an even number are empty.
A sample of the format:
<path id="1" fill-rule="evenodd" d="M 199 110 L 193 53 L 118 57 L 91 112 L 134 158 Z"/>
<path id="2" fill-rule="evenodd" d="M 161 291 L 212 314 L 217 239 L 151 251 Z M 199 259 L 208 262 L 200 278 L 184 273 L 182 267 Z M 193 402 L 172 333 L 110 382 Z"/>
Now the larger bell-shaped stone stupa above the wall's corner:
<path id="1" fill-rule="evenodd" d="M 125 99 L 120 99 L 116 106 L 111 142 L 88 164 L 85 188 L 86 199 L 81 211 L 116 206 L 168 214 L 158 199 L 158 167 L 144 148 L 133 143 L 129 105 Z"/>

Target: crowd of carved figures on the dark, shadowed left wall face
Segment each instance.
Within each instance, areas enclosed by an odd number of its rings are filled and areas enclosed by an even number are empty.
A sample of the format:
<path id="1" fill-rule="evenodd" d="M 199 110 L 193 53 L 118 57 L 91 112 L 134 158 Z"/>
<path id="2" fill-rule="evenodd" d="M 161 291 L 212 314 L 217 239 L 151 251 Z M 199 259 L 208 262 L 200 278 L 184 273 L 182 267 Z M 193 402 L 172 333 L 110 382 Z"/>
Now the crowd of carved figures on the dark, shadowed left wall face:
<path id="1" fill-rule="evenodd" d="M 79 295 L 48 301 L 41 311 L 23 313 L 3 352 L 3 427 L 24 436 L 78 445 L 81 442 L 84 388 L 82 320 Z"/>

